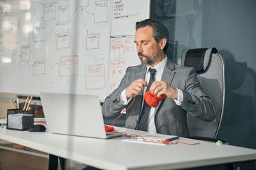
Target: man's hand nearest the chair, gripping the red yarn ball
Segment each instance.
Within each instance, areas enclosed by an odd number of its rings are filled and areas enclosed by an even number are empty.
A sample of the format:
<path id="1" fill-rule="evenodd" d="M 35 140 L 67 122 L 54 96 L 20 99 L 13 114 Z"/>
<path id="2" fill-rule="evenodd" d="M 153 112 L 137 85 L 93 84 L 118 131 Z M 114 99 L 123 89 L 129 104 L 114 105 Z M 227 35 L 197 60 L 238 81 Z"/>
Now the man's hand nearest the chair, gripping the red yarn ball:
<path id="1" fill-rule="evenodd" d="M 166 84 L 165 81 L 154 81 L 149 90 L 158 97 L 165 94 L 168 98 L 178 98 L 178 90 Z"/>

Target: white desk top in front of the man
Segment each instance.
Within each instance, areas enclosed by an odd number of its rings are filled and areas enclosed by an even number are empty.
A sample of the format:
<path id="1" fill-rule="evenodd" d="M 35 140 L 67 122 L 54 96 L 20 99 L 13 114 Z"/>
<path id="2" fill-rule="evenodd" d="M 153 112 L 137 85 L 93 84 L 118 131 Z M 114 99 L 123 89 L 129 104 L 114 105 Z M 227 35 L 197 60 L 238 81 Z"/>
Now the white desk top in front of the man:
<path id="1" fill-rule="evenodd" d="M 145 134 L 137 130 L 116 128 L 127 134 Z M 225 164 L 256 159 L 256 149 L 216 145 L 200 141 L 200 145 L 145 145 L 122 142 L 126 137 L 100 140 L 87 137 L 55 135 L 0 128 L 0 139 L 31 147 L 42 152 L 71 159 L 100 169 L 181 169 L 212 164 Z M 195 143 L 184 139 L 182 142 Z"/>

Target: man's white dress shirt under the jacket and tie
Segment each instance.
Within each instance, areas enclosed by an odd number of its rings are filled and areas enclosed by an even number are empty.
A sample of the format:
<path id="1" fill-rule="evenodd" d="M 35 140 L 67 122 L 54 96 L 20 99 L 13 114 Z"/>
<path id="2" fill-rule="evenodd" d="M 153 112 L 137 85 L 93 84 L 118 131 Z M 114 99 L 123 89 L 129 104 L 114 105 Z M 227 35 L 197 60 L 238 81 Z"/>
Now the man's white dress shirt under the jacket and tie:
<path id="1" fill-rule="evenodd" d="M 151 65 L 146 65 L 146 75 L 145 75 L 145 81 L 147 83 L 149 83 L 149 78 L 150 78 L 150 72 L 149 72 L 149 68 L 154 68 L 156 69 L 156 73 L 155 73 L 155 77 L 154 77 L 154 81 L 161 81 L 161 77 L 162 74 L 164 72 L 164 67 L 166 65 L 166 61 L 167 61 L 167 57 L 164 57 L 164 60 L 162 60 L 161 62 L 159 62 L 159 64 L 157 64 L 155 67 L 152 67 Z M 124 91 L 122 91 L 121 93 L 121 99 L 124 102 L 124 105 L 127 105 L 129 103 L 129 101 L 131 100 L 131 98 L 129 98 L 127 100 L 126 94 L 125 94 L 126 89 L 124 89 Z M 146 88 L 144 88 L 144 93 L 146 92 Z M 136 99 L 135 99 L 136 100 Z M 178 99 L 174 99 L 174 101 L 176 102 L 177 105 L 181 105 L 182 101 L 183 101 L 183 93 L 180 89 L 178 89 Z M 144 103 L 143 103 L 144 104 Z M 160 104 L 160 103 L 159 103 Z M 150 111 L 149 111 L 149 119 L 148 119 L 148 131 L 150 133 L 156 133 L 156 125 L 154 122 L 154 117 L 156 114 L 156 110 L 159 106 L 157 106 L 156 108 L 151 107 Z"/>

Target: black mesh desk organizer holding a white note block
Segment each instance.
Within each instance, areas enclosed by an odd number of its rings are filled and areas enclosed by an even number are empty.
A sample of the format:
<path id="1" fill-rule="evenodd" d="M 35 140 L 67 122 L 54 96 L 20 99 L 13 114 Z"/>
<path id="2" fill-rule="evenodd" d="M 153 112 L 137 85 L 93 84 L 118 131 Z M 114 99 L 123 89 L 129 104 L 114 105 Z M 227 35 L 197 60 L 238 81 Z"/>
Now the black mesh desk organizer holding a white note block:
<path id="1" fill-rule="evenodd" d="M 28 130 L 34 124 L 35 111 L 23 111 L 22 109 L 7 109 L 6 129 Z"/>

